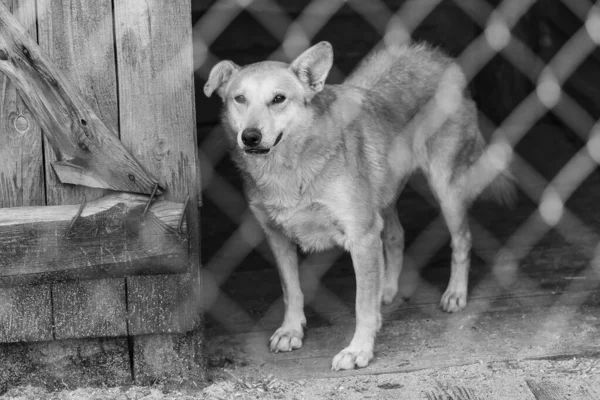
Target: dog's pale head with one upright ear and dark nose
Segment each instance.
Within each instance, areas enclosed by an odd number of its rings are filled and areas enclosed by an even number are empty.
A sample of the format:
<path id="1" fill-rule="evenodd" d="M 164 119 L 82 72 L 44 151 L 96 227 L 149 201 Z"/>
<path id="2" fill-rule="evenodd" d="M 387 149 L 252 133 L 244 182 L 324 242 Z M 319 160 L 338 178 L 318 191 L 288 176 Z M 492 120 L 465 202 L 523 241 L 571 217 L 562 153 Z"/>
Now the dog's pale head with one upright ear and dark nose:
<path id="1" fill-rule="evenodd" d="M 240 149 L 267 154 L 310 119 L 306 105 L 325 86 L 333 50 L 321 42 L 291 64 L 263 61 L 239 67 L 221 61 L 210 71 L 204 93 L 214 92 L 225 107 L 225 120 Z M 288 135 L 289 134 L 289 135 Z"/>

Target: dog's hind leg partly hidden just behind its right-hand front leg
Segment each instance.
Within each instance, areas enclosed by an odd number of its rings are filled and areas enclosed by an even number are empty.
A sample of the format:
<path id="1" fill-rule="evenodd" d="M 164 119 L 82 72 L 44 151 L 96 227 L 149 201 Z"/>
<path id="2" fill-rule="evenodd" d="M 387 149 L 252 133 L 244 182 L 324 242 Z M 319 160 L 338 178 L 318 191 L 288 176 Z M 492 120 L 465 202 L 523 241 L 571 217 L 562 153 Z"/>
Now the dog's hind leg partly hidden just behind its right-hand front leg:
<path id="1" fill-rule="evenodd" d="M 404 256 L 404 229 L 398 218 L 396 203 L 390 204 L 383 211 L 383 249 L 385 252 L 385 277 L 382 300 L 390 304 L 398 293 L 398 279 L 402 272 Z"/>

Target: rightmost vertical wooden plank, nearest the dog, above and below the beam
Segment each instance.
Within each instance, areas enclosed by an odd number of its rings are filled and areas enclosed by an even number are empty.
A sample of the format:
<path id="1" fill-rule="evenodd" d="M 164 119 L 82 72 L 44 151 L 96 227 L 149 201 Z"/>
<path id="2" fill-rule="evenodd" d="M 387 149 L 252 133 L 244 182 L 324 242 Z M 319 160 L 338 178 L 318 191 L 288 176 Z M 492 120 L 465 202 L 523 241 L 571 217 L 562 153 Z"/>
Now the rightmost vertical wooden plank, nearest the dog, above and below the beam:
<path id="1" fill-rule="evenodd" d="M 114 4 L 121 140 L 158 177 L 167 200 L 189 197 L 189 273 L 127 278 L 128 288 L 133 288 L 128 290 L 130 333 L 191 329 L 198 325 L 201 285 L 190 0 Z M 189 293 L 188 298 L 184 301 L 177 292 Z M 197 380 L 193 370 L 202 370 L 201 340 L 200 329 L 175 336 L 135 336 L 136 380 L 178 379 L 180 372 Z M 191 347 L 173 345 L 179 342 Z M 163 359 L 177 360 L 180 368 L 153 368 L 159 364 L 147 362 L 147 355 L 158 349 Z"/>

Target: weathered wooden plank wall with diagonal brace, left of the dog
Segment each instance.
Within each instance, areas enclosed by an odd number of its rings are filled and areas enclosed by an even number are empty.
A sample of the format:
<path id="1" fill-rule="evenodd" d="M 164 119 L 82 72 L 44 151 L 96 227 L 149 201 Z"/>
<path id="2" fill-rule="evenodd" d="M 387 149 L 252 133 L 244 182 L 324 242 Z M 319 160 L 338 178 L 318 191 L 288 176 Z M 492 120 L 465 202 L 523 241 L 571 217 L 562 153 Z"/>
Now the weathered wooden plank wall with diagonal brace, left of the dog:
<path id="1" fill-rule="evenodd" d="M 172 377 L 158 350 L 201 376 L 190 8 L 0 0 L 0 343 L 117 337 L 136 380 Z"/>

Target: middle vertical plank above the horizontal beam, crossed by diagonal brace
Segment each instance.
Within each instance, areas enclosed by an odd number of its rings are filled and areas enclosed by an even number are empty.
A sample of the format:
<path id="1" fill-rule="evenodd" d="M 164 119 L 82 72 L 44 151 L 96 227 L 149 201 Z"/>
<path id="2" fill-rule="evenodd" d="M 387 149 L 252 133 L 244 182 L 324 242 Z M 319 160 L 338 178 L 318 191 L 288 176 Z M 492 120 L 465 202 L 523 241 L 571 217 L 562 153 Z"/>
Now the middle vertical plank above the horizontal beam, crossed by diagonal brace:
<path id="1" fill-rule="evenodd" d="M 118 135 L 117 76 L 110 1 L 58 0 L 39 11 L 39 44 L 102 121 Z M 92 45 L 93 43 L 93 45 Z M 72 204 L 102 197 L 103 189 L 62 185 L 51 163 L 57 154 L 45 138 L 49 204 Z M 68 201 L 67 201 L 68 199 Z"/>

